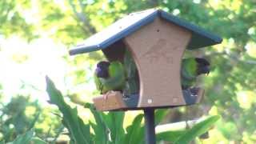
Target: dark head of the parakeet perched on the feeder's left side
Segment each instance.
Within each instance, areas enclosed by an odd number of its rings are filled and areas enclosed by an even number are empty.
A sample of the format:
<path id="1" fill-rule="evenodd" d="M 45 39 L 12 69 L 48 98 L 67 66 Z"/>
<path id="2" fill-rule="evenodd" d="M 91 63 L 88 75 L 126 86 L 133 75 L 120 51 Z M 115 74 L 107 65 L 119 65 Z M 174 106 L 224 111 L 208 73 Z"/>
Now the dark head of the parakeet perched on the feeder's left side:
<path id="1" fill-rule="evenodd" d="M 110 62 L 102 61 L 98 62 L 95 73 L 98 78 L 108 78 L 108 68 L 110 66 Z"/>

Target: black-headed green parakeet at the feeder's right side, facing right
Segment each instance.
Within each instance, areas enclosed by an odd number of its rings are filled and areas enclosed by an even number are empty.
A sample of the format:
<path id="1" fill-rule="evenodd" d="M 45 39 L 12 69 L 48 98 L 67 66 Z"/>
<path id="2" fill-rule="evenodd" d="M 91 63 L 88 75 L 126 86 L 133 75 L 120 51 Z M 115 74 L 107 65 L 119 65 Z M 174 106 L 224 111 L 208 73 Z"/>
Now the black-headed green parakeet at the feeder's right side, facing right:
<path id="1" fill-rule="evenodd" d="M 182 59 L 182 89 L 190 88 L 196 82 L 200 74 L 209 74 L 210 62 L 205 58 L 183 58 Z"/>

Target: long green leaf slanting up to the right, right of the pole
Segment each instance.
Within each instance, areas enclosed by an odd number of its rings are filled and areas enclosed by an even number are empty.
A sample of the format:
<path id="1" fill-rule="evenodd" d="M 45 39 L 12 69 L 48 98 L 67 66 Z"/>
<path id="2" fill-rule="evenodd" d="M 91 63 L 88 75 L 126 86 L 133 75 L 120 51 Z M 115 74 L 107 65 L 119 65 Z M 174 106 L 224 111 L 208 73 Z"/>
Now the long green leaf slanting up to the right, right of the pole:
<path id="1" fill-rule="evenodd" d="M 179 137 L 174 143 L 188 143 L 194 140 L 194 138 L 206 133 L 219 118 L 220 116 L 215 115 L 206 118 L 206 120 L 202 122 L 198 122 L 198 124 L 194 125 L 190 130 L 187 130 L 186 133 Z"/>

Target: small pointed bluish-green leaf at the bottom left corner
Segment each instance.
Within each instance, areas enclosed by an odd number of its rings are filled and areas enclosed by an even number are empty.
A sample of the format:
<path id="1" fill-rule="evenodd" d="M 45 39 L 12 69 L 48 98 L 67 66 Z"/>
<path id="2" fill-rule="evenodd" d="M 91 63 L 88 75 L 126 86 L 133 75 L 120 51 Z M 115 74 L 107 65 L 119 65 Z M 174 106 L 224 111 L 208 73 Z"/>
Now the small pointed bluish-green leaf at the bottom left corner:
<path id="1" fill-rule="evenodd" d="M 29 144 L 31 138 L 33 137 L 34 129 L 30 129 L 26 131 L 25 134 L 18 135 L 17 138 L 14 139 L 13 142 L 8 142 L 7 144 Z"/>

